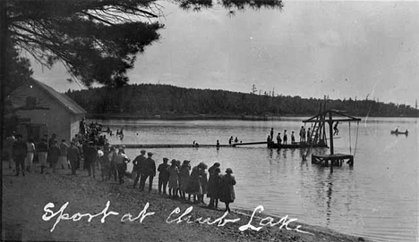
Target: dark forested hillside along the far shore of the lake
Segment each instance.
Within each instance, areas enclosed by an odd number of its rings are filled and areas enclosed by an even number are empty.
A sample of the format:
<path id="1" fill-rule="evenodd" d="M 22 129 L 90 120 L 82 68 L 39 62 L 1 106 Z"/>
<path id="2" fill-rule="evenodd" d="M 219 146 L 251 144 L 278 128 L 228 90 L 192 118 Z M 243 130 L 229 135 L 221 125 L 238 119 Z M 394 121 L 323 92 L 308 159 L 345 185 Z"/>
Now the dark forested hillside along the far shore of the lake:
<path id="1" fill-rule="evenodd" d="M 266 96 L 225 90 L 178 88 L 170 85 L 135 84 L 122 88 L 67 91 L 88 113 L 211 116 L 309 116 L 327 109 L 354 116 L 418 117 L 414 107 L 374 100 L 327 100 L 300 96 Z"/>

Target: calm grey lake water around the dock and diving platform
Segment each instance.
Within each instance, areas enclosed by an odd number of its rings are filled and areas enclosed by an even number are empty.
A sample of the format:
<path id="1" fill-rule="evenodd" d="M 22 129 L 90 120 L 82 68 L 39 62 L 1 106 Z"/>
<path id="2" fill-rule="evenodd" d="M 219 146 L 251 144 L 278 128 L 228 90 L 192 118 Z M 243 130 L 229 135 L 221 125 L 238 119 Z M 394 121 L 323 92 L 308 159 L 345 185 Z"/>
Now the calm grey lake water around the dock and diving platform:
<path id="1" fill-rule="evenodd" d="M 355 122 L 351 127 L 339 124 L 335 153 L 355 154 L 355 165 L 335 167 L 333 173 L 312 164 L 311 159 L 302 162 L 301 154 L 306 150 L 299 149 L 277 151 L 261 145 L 148 151 L 154 153 L 157 164 L 168 157 L 191 160 L 192 166 L 200 162 L 210 166 L 218 161 L 223 172 L 232 168 L 237 180 L 232 208 L 253 210 L 263 205 L 266 213 L 289 215 L 298 221 L 376 241 L 417 241 L 418 119 L 362 119 L 358 127 Z M 124 126 L 124 140 L 107 137 L 111 144 L 215 144 L 217 139 L 227 144 L 230 136 L 243 142 L 265 141 L 271 127 L 275 133 L 283 133 L 284 129 L 289 134 L 292 130 L 298 133 L 302 120 L 99 122 L 114 132 Z M 409 135 L 390 135 L 389 131 L 396 127 L 408 129 Z M 132 159 L 139 153 L 139 149 L 127 150 Z M 329 149 L 312 149 L 310 153 L 328 154 Z"/>

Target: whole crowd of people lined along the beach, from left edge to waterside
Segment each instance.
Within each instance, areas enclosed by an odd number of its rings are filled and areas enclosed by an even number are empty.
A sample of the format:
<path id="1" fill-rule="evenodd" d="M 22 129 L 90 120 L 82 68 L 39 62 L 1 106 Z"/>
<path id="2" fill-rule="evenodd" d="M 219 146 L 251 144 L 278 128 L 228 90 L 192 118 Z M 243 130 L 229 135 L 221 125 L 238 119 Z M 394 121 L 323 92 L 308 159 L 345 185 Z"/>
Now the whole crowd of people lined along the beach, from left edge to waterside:
<path id="1" fill-rule="evenodd" d="M 103 181 L 115 179 L 123 184 L 127 175 L 127 164 L 131 163 L 131 159 L 125 154 L 125 147 L 109 146 L 106 136 L 101 135 L 102 127 L 98 123 L 83 127 L 84 133 L 76 135 L 69 144 L 65 139 L 58 144 L 56 134 L 52 134 L 49 139 L 45 136 L 37 146 L 32 138 L 25 141 L 21 135 L 10 136 L 6 140 L 9 144 L 9 168 L 12 170 L 14 162 L 16 176 L 20 173 L 25 176 L 25 171 L 33 171 L 33 158 L 37 152 L 40 173 L 50 170 L 54 174 L 56 169 L 68 169 L 72 175 L 76 175 L 78 170 L 84 170 L 95 178 L 96 169 L 99 169 Z M 191 167 L 190 161 L 184 160 L 181 163 L 172 159 L 168 164 L 168 158 L 163 158 L 163 163 L 156 168 L 152 156 L 149 152 L 146 157 L 146 151 L 141 150 L 141 154 L 133 159 L 133 188 L 140 182 L 139 188 L 144 191 L 148 179 L 150 192 L 158 172 L 158 194 L 197 204 L 206 204 L 204 196 L 207 196 L 209 207 L 217 208 L 218 201 L 221 201 L 226 204 L 226 211 L 230 212 L 229 204 L 235 201 L 235 177 L 232 169 L 227 168 L 226 174 L 222 175 L 220 163 L 214 163 L 207 172 L 208 166 L 205 163 Z"/>

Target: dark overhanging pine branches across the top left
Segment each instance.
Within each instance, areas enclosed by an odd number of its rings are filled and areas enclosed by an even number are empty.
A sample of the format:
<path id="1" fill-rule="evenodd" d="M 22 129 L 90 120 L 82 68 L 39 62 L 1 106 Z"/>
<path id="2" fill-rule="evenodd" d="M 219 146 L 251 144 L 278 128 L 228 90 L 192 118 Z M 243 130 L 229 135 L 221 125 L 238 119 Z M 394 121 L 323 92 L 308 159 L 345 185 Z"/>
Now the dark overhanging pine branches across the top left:
<path id="1" fill-rule="evenodd" d="M 2 0 L 3 1 L 3 0 Z M 281 8 L 280 0 L 167 0 L 183 9 Z M 159 38 L 156 0 L 6 0 L 5 38 L 47 67 L 61 62 L 90 87 L 124 86 L 137 55 Z M 6 56 L 9 57 L 10 56 Z M 12 71 L 12 65 L 6 71 Z"/>

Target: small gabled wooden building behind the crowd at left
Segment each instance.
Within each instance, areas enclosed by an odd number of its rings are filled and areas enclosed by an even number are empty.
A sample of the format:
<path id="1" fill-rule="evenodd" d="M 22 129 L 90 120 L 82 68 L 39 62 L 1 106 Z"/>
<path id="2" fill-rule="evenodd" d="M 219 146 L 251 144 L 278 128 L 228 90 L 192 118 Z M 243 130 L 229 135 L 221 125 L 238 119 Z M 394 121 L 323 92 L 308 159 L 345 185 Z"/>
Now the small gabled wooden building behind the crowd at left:
<path id="1" fill-rule="evenodd" d="M 6 102 L 17 117 L 15 131 L 23 138 L 40 138 L 56 134 L 56 140 L 70 141 L 80 130 L 80 121 L 86 111 L 70 97 L 58 93 L 36 79 L 26 81 L 15 88 Z"/>

